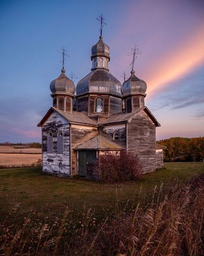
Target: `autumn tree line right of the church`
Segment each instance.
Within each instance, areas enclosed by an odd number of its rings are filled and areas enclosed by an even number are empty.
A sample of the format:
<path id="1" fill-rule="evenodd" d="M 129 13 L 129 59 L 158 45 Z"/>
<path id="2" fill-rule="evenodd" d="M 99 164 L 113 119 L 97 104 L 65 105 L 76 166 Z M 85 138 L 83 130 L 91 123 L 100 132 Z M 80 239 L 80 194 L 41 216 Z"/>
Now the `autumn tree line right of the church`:
<path id="1" fill-rule="evenodd" d="M 164 162 L 204 161 L 204 137 L 174 137 L 157 141 L 164 145 Z"/>

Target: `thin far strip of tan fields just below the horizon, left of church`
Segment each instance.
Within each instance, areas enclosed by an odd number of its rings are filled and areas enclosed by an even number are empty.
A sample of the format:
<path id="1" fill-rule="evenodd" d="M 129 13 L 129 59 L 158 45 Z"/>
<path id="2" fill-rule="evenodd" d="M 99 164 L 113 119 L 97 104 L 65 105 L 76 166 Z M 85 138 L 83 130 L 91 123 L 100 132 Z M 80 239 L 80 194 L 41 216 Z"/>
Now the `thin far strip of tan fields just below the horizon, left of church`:
<path id="1" fill-rule="evenodd" d="M 0 153 L 37 153 L 41 154 L 41 148 L 28 146 L 0 146 Z"/>

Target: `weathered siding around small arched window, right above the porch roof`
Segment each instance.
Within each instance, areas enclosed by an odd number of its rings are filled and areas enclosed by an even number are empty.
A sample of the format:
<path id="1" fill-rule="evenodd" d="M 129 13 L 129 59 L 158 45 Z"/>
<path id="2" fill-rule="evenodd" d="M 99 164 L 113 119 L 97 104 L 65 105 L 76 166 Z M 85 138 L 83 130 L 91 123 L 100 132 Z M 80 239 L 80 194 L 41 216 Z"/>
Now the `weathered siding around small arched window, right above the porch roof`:
<path id="1" fill-rule="evenodd" d="M 113 140 L 113 134 L 115 131 L 119 131 L 121 134 L 120 141 Z M 126 128 L 125 124 L 118 124 L 118 125 L 106 125 L 104 127 L 99 128 L 99 134 L 102 134 L 110 141 L 114 141 L 114 143 L 118 144 L 122 148 L 126 148 Z"/>

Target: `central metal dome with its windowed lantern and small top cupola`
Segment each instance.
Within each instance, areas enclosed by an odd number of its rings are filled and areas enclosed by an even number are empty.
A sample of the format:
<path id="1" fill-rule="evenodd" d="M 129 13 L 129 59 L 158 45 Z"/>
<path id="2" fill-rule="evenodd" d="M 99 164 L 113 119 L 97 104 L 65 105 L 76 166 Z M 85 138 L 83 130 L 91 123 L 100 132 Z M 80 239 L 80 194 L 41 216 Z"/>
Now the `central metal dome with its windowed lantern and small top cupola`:
<path id="1" fill-rule="evenodd" d="M 91 49 L 92 71 L 77 83 L 77 95 L 82 93 L 107 93 L 122 96 L 121 83 L 108 69 L 110 47 L 102 40 L 102 35 Z"/>

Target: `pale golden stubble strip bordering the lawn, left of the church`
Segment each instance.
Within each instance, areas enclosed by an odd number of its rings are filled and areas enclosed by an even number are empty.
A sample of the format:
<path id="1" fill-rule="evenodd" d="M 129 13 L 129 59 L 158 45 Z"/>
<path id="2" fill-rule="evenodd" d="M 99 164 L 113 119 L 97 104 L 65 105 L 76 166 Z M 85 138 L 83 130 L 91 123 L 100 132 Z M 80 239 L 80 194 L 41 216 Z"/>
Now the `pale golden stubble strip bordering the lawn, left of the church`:
<path id="1" fill-rule="evenodd" d="M 41 154 L 0 154 L 0 165 L 21 165 L 35 163 Z"/>

